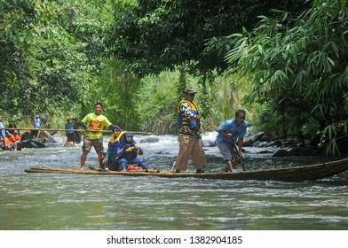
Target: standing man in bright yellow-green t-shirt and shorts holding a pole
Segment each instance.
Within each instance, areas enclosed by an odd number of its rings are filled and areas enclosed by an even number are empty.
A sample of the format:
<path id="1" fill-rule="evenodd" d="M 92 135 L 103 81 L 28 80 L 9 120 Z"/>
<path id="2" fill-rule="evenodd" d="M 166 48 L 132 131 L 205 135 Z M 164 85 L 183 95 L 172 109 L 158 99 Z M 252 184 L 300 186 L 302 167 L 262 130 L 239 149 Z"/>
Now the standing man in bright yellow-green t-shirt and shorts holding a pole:
<path id="1" fill-rule="evenodd" d="M 87 114 L 83 120 L 82 125 L 86 129 L 86 133 L 83 138 L 83 155 L 81 155 L 81 167 L 83 170 L 84 163 L 86 162 L 87 155 L 91 151 L 91 147 L 94 147 L 98 154 L 99 162 L 103 159 L 103 135 L 100 132 L 104 127 L 115 127 L 107 117 L 101 114 L 103 105 L 97 103 L 94 105 L 94 112 Z"/>

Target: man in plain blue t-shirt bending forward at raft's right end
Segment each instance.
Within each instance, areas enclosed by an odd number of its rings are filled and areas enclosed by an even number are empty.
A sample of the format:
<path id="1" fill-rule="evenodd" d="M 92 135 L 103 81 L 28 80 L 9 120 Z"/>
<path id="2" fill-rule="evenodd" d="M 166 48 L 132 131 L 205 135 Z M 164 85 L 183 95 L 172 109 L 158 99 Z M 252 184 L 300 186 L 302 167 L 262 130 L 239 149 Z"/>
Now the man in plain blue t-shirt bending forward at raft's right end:
<path id="1" fill-rule="evenodd" d="M 246 112 L 237 110 L 235 118 L 225 120 L 218 127 L 218 136 L 216 143 L 225 160 L 225 172 L 232 172 L 233 166 L 237 165 L 237 161 L 242 159 L 243 138 L 247 134 L 248 122 L 245 120 Z M 238 142 L 238 151 L 235 143 Z"/>

